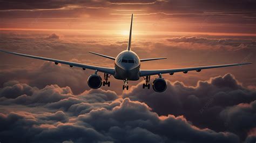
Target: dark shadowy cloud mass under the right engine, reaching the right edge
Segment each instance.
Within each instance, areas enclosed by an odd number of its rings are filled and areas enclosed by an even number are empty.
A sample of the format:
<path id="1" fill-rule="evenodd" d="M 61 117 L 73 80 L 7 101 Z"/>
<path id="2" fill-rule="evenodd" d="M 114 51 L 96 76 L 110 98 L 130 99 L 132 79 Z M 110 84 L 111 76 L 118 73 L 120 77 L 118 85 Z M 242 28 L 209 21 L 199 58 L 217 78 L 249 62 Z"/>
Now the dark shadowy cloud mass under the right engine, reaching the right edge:
<path id="1" fill-rule="evenodd" d="M 141 90 L 141 87 L 142 83 L 132 88 L 131 92 L 124 93 L 123 97 L 144 102 L 160 115 L 184 115 L 194 125 L 215 131 L 227 130 L 225 121 L 220 119 L 226 107 L 256 100 L 256 92 L 242 87 L 231 74 L 211 78 L 210 81 L 198 81 L 196 87 L 178 81 L 168 82 L 164 93 Z M 239 129 L 233 132 L 237 131 Z M 240 137 L 244 140 L 244 135 L 240 134 Z"/>

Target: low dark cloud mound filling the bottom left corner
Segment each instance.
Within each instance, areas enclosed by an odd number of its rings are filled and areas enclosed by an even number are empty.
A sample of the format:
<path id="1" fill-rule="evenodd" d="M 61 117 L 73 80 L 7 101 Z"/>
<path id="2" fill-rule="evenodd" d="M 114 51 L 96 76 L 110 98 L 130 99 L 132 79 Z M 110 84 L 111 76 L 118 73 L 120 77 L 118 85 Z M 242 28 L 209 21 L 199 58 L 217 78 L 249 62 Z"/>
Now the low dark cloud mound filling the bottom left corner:
<path id="1" fill-rule="evenodd" d="M 42 124 L 30 113 L 1 114 L 0 120 L 0 136 L 5 142 L 62 142 L 77 139 L 76 137 L 82 138 L 85 142 L 93 142 L 105 138 L 92 128 L 62 124 L 62 122 L 57 122 L 56 126 Z M 14 134 L 16 138 L 13 138 Z"/>

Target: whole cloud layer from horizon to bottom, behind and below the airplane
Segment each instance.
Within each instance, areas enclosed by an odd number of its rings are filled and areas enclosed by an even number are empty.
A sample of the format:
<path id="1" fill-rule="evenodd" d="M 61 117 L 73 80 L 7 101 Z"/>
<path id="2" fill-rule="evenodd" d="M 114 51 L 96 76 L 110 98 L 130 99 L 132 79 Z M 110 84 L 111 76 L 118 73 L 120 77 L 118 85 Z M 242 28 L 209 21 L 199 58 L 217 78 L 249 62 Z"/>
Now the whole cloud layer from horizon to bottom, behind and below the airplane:
<path id="1" fill-rule="evenodd" d="M 140 58 L 168 58 L 142 69 L 256 61 L 255 37 L 134 39 Z M 117 56 L 127 37 L 1 31 L 0 43 L 8 51 L 112 67 L 112 60 L 88 51 Z M 123 91 L 123 81 L 112 77 L 111 87 L 90 90 L 93 71 L 0 54 L 1 142 L 255 142 L 254 66 L 164 75 L 164 93 L 142 89 L 141 81 Z"/>

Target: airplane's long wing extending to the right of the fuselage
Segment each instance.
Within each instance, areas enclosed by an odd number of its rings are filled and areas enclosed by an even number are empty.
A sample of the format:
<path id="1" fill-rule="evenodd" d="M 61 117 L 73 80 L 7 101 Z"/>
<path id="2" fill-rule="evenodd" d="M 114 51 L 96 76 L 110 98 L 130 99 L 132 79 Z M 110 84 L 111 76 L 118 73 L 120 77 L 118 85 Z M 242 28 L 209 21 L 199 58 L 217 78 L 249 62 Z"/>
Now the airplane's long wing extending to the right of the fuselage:
<path id="1" fill-rule="evenodd" d="M 238 66 L 238 65 L 247 65 L 247 64 L 252 64 L 252 63 L 212 65 L 212 66 L 198 66 L 198 67 L 187 67 L 187 68 L 180 68 L 180 69 L 140 70 L 140 77 L 152 76 L 152 75 L 164 74 L 164 73 L 173 74 L 174 72 L 184 72 L 184 73 L 187 73 L 188 71 L 200 72 L 203 69 L 213 69 L 213 68 L 219 68 L 219 67 Z"/>

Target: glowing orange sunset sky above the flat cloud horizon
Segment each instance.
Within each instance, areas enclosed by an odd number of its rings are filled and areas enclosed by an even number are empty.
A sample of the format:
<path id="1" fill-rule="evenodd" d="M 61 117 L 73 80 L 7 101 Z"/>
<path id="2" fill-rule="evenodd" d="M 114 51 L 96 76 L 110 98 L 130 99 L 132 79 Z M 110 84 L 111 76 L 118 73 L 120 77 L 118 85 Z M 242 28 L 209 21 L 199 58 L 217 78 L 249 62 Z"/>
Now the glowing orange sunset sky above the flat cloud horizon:
<path id="1" fill-rule="evenodd" d="M 1 28 L 255 33 L 255 1 L 1 1 Z M 116 31 L 120 30 L 120 31 Z"/>

